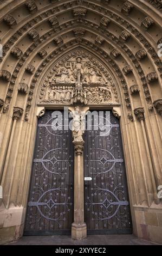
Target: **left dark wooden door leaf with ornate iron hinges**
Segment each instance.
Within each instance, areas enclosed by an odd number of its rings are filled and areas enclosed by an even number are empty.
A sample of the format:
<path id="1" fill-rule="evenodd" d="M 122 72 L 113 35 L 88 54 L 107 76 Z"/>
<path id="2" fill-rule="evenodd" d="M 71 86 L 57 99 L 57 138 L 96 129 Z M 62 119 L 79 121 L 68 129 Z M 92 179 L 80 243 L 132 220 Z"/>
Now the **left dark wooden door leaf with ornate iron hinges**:
<path id="1" fill-rule="evenodd" d="M 38 120 L 25 235 L 70 234 L 73 222 L 72 132 L 54 130 L 52 113 Z"/>

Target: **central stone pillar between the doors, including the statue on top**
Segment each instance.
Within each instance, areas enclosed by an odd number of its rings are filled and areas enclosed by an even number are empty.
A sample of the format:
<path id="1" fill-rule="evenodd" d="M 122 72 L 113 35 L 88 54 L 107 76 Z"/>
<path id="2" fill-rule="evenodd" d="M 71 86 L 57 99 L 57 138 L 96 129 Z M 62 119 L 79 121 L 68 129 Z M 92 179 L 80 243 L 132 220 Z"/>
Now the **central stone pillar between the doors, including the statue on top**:
<path id="1" fill-rule="evenodd" d="M 72 238 L 83 239 L 87 236 L 87 226 L 84 216 L 84 169 L 83 169 L 83 133 L 85 132 L 85 114 L 87 107 L 70 107 L 73 115 L 74 157 L 74 222 L 72 223 Z"/>

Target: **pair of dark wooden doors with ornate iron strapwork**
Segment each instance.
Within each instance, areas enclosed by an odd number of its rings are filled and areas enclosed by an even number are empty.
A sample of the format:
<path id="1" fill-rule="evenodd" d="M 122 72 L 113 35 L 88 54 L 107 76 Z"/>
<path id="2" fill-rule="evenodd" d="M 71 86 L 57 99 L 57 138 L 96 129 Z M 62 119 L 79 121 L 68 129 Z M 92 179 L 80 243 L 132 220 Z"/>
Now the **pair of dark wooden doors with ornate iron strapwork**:
<path id="1" fill-rule="evenodd" d="M 96 112 L 99 114 L 99 112 Z M 106 112 L 104 112 L 106 113 Z M 60 111 L 63 117 L 63 111 Z M 57 117 L 58 119 L 58 117 Z M 68 235 L 74 212 L 72 131 L 57 126 L 53 111 L 38 119 L 24 235 Z M 105 119 L 106 120 L 106 119 Z M 119 120 L 111 113 L 109 135 L 85 131 L 85 222 L 89 234 L 131 233 Z M 69 120 L 70 121 L 70 120 Z"/>

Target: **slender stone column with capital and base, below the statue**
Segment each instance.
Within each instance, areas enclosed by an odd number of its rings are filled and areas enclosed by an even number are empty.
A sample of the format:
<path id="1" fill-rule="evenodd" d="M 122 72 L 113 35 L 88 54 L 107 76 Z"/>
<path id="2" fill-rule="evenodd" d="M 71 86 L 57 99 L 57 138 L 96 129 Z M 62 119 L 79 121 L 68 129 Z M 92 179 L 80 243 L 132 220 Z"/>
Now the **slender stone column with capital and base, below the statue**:
<path id="1" fill-rule="evenodd" d="M 85 142 L 73 142 L 75 149 L 74 164 L 74 222 L 72 238 L 83 239 L 87 236 L 87 226 L 84 222 L 84 174 L 83 148 Z"/>

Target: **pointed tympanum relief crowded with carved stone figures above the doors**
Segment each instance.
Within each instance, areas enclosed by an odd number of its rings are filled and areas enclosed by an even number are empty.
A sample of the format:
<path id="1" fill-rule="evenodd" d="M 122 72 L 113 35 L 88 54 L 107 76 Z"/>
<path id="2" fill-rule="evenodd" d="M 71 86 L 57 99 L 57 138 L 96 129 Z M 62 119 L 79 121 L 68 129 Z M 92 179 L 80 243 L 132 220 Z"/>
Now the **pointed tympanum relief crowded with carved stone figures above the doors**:
<path id="1" fill-rule="evenodd" d="M 53 66 L 42 84 L 39 100 L 56 105 L 119 103 L 109 72 L 82 50 L 68 54 Z"/>

